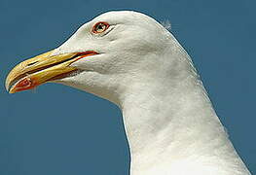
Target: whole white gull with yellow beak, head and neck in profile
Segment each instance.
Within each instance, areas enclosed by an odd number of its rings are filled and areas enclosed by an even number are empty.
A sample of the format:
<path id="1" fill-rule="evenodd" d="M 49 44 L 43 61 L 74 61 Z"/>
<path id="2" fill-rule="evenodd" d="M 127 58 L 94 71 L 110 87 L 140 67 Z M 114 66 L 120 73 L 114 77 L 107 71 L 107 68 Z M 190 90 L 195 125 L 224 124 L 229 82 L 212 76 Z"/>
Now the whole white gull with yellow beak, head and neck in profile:
<path id="1" fill-rule="evenodd" d="M 154 18 L 131 11 L 93 18 L 60 47 L 19 63 L 6 88 L 15 93 L 48 82 L 119 106 L 130 175 L 250 174 L 191 57 Z"/>

